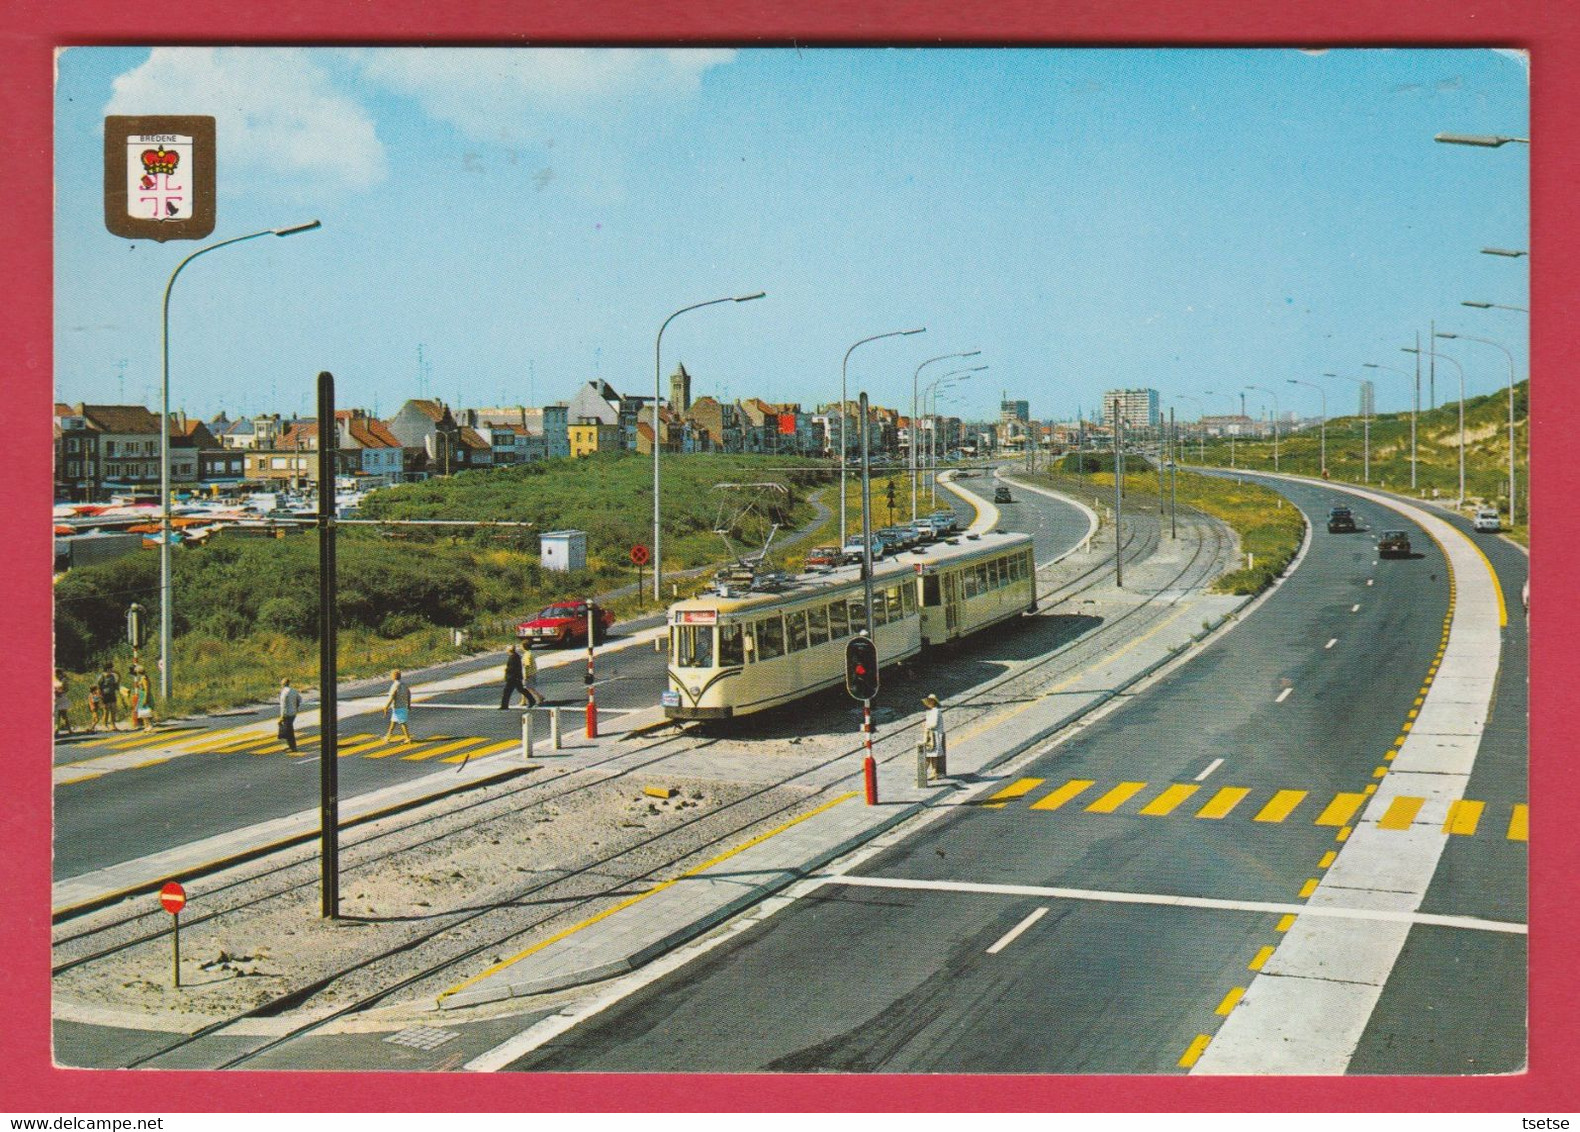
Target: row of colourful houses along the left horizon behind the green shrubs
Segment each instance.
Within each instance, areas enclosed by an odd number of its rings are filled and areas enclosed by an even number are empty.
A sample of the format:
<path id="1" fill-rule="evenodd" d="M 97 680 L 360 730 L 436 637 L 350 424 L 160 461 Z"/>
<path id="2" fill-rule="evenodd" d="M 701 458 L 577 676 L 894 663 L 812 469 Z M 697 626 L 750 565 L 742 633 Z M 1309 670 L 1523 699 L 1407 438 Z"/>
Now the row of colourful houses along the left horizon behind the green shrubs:
<path id="1" fill-rule="evenodd" d="M 588 381 L 569 402 L 542 408 L 452 409 L 441 400 L 414 398 L 389 419 L 365 409 L 335 413 L 337 474 L 363 487 L 449 476 L 558 457 L 597 452 L 758 452 L 834 455 L 861 447 L 856 402 L 806 411 L 796 403 L 760 398 L 725 402 L 690 395 L 681 365 L 670 376 L 670 397 L 619 394 L 607 381 Z M 913 422 L 894 409 L 871 406 L 867 444 L 878 457 L 905 457 L 912 436 L 920 451 L 940 454 L 962 443 L 957 417 Z M 299 485 L 316 479 L 321 422 L 314 417 L 258 414 L 231 421 L 220 414 L 196 421 L 171 414 L 171 484 L 177 490 L 228 485 Z M 111 495 L 156 492 L 160 417 L 141 405 L 55 405 L 55 498 L 93 501 Z"/>

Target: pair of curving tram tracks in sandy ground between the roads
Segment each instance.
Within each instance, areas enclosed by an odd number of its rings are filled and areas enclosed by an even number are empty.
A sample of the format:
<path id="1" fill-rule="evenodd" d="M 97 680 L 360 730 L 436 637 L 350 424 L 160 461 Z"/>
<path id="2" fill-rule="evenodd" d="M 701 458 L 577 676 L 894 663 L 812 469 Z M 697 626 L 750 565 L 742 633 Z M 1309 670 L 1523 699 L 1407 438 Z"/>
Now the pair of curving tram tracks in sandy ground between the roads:
<path id="1" fill-rule="evenodd" d="M 1194 549 L 1164 585 L 1157 587 L 1153 594 L 1142 594 L 1134 606 L 1090 632 L 1073 639 L 1068 645 L 989 680 L 967 696 L 956 697 L 951 702 L 954 726 L 970 726 L 973 721 L 992 715 L 1005 704 L 1049 686 L 1052 677 L 1068 669 L 1071 661 L 1079 662 L 1078 651 L 1101 651 L 1115 636 L 1130 636 L 1141 631 L 1152 618 L 1166 615 L 1168 607 L 1180 601 L 1190 587 L 1198 585 L 1213 574 L 1229 536 L 1221 525 L 1204 515 L 1190 515 L 1187 517 L 1187 523 L 1196 534 L 1193 541 Z M 1119 534 L 1123 539 L 1123 558 L 1128 563 L 1141 563 L 1157 550 L 1161 539 L 1161 526 L 1155 517 L 1142 512 L 1128 519 L 1127 530 Z M 1104 558 L 1089 569 L 1066 577 L 1063 583 L 1051 588 L 1040 601 L 1051 602 L 1055 607 L 1070 602 L 1079 594 L 1101 585 L 1109 566 L 1111 560 Z M 969 650 L 970 642 L 962 642 L 953 648 Z M 878 762 L 908 757 L 918 729 L 920 723 L 912 723 L 886 730 L 875 741 L 874 757 Z M 667 759 L 690 751 L 697 738 L 689 730 L 653 737 L 640 748 L 618 751 L 581 764 L 577 768 L 567 768 L 550 779 L 509 784 L 498 794 L 469 800 L 438 817 L 417 819 L 393 828 L 370 830 L 365 836 L 348 840 L 343 846 L 344 874 L 354 876 L 360 870 L 386 865 L 401 854 L 414 852 L 447 838 L 455 838 L 468 830 L 485 827 L 488 822 L 518 813 L 523 806 L 566 800 L 594 784 L 607 786 L 610 781 L 651 772 Z M 453 972 L 457 966 L 469 963 L 483 953 L 507 947 L 512 941 L 520 941 L 523 936 L 529 936 L 567 914 L 581 917 L 599 904 L 624 898 L 634 889 L 673 874 L 686 860 L 716 852 L 720 846 L 738 841 L 749 830 L 760 828 L 768 822 L 784 821 L 798 809 L 817 805 L 817 794 L 803 795 L 784 803 L 774 802 L 768 806 L 762 803 L 776 791 L 782 792 L 785 787 L 806 786 L 823 776 L 820 772 L 828 772 L 841 762 L 848 764 L 850 756 L 863 749 L 863 743 L 841 745 L 826 757 L 817 759 L 811 765 L 801 765 L 795 773 L 788 773 L 784 778 L 725 802 L 719 808 L 684 825 L 665 830 L 634 846 L 600 854 L 553 876 L 534 879 L 487 906 L 434 914 L 428 917 L 422 930 L 408 934 L 378 953 L 360 957 L 250 1010 L 180 1036 L 160 1050 L 128 1062 L 126 1067 L 155 1066 L 172 1055 L 190 1058 L 194 1048 L 202 1047 L 209 1039 L 224 1034 L 242 1021 L 288 1015 L 303 1009 L 330 988 L 344 991 L 349 985 L 359 987 L 348 1002 L 335 1006 L 327 1013 L 319 1012 L 297 1026 L 289 1026 L 281 1034 L 240 1055 L 226 1055 L 213 1067 L 228 1069 L 254 1061 L 267 1051 L 321 1029 L 335 1020 L 368 1010 L 393 994 L 436 980 L 446 972 Z M 621 765 L 615 768 L 613 764 Z M 828 787 L 820 789 L 826 791 Z M 626 873 L 619 871 L 619 865 L 638 851 L 651 855 L 654 849 L 660 851 L 659 863 Z M 611 873 L 616 874 L 613 881 L 610 881 Z M 188 923 L 198 925 L 223 920 L 228 915 L 234 917 L 243 911 L 254 911 L 269 901 L 300 900 L 303 885 L 311 885 L 314 881 L 316 858 L 310 851 L 303 851 L 299 860 L 272 865 L 205 892 L 205 903 L 212 903 L 215 896 L 223 898 L 224 893 L 231 893 L 234 900 L 223 907 L 190 919 Z M 545 907 L 548 911 L 540 911 Z M 153 925 L 158 925 L 158 928 L 155 930 Z M 52 971 L 63 974 L 96 961 L 112 960 L 131 949 L 150 945 L 153 941 L 166 938 L 166 922 L 161 912 L 136 914 L 109 923 L 96 923 L 87 931 L 57 938 L 57 955 L 62 952 L 66 952 L 66 955 L 62 955 Z M 71 953 L 79 947 L 81 952 Z M 188 1062 L 183 1061 L 182 1064 Z"/>

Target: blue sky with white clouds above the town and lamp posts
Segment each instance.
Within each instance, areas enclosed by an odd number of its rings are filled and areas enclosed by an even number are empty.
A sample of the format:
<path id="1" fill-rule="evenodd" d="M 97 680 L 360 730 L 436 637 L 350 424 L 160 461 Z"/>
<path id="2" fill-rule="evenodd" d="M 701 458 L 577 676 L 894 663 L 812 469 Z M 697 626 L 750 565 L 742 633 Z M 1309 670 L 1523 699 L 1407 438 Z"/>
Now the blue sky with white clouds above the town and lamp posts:
<path id="1" fill-rule="evenodd" d="M 991 368 L 948 409 L 1089 413 L 1152 386 L 1193 417 L 1245 384 L 1356 408 L 1430 319 L 1526 376 L 1526 63 L 1473 51 L 120 49 L 58 58 L 57 398 L 155 405 L 160 297 L 196 243 L 103 223 L 106 114 L 213 114 L 212 240 L 175 286 L 172 406 L 212 416 L 651 392 L 908 409 L 937 354 Z M 419 348 L 425 359 L 419 370 Z M 1443 343 L 1469 394 L 1496 349 Z M 950 370 L 929 365 L 924 384 Z M 1457 384 L 1438 373 L 1438 400 Z M 1425 397 L 1425 392 L 1424 392 Z M 1382 372 L 1378 408 L 1406 408 Z M 1255 414 L 1264 398 L 1248 397 Z"/>

